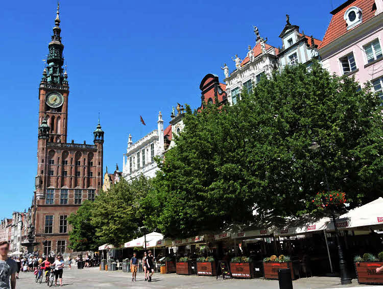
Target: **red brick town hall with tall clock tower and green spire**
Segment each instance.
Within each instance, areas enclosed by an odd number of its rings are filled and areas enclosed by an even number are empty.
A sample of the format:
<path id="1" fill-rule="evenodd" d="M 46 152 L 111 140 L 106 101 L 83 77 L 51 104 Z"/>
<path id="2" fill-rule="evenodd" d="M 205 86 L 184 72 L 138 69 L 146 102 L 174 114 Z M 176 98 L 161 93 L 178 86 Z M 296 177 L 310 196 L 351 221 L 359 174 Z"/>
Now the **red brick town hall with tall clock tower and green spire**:
<path id="1" fill-rule="evenodd" d="M 61 43 L 59 7 L 39 85 L 37 175 L 33 202 L 34 250 L 70 253 L 67 217 L 102 188 L 104 131 L 100 120 L 93 143 L 67 142 L 69 85 Z M 78 124 L 81 126 L 81 123 Z M 91 130 L 89 130 L 90 132 Z M 89 134 L 90 136 L 90 134 Z"/>

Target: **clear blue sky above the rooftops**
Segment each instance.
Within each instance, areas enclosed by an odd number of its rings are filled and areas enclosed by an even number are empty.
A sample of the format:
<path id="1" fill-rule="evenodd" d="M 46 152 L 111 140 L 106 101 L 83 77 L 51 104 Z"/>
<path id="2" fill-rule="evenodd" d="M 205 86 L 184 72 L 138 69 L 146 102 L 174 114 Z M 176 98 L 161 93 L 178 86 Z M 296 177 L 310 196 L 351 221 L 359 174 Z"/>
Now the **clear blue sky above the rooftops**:
<path id="1" fill-rule="evenodd" d="M 200 105 L 199 84 L 254 44 L 268 43 L 290 14 L 293 25 L 323 38 L 342 0 L 61 1 L 61 36 L 70 87 L 68 142 L 92 143 L 98 112 L 105 131 L 104 171 L 122 169 L 127 135 L 136 141 L 165 124 L 172 106 Z M 31 205 L 36 176 L 38 85 L 57 2 L 4 1 L 0 9 L 0 218 Z M 142 115 L 147 126 L 139 122 Z"/>

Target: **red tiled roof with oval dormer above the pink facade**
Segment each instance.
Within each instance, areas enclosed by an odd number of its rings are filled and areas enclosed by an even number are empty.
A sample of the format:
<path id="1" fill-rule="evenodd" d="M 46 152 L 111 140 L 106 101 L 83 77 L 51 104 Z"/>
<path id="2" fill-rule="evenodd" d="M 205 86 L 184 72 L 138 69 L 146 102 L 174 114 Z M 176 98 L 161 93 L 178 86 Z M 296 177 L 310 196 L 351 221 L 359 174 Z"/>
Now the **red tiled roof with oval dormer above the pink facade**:
<path id="1" fill-rule="evenodd" d="M 346 33 L 355 29 L 359 25 L 370 20 L 375 16 L 375 10 L 372 10 L 375 0 L 349 0 L 334 11 L 331 12 L 332 18 L 328 25 L 327 31 L 323 37 L 323 41 L 319 46 L 319 49 L 326 46 L 328 43 L 336 40 L 337 38 L 345 35 Z M 343 18 L 346 10 L 352 6 L 356 6 L 362 9 L 362 23 L 347 30 L 346 20 Z"/>

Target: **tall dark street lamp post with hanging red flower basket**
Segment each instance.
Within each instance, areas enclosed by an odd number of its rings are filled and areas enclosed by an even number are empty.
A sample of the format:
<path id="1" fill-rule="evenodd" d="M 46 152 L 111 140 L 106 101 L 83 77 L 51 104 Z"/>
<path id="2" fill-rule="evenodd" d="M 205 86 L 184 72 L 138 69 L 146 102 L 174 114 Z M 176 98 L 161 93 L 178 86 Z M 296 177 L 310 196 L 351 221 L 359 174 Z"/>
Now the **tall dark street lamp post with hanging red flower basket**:
<path id="1" fill-rule="evenodd" d="M 317 143 L 313 139 L 312 143 L 310 144 L 310 146 L 308 148 L 310 150 L 312 150 L 314 153 L 318 152 L 318 150 L 320 150 L 320 152 L 321 152 L 321 163 L 322 163 L 322 167 L 323 167 L 324 177 L 325 177 L 325 180 L 326 180 L 327 192 L 329 193 L 330 192 L 330 187 L 328 185 L 326 166 L 324 165 L 324 162 L 323 162 L 323 152 L 322 152 L 321 144 L 320 144 L 320 142 Z M 347 272 L 347 263 L 346 263 L 346 261 L 344 259 L 343 248 L 342 248 L 341 242 L 339 240 L 339 233 L 338 233 L 337 224 L 335 222 L 335 212 L 334 212 L 333 208 L 331 208 L 331 218 L 332 218 L 332 223 L 334 224 L 335 236 L 337 238 L 337 243 L 338 243 L 339 270 L 340 270 L 340 273 L 341 273 L 341 283 L 343 285 L 344 284 L 350 284 L 351 283 L 351 278 L 349 277 L 350 275 Z"/>

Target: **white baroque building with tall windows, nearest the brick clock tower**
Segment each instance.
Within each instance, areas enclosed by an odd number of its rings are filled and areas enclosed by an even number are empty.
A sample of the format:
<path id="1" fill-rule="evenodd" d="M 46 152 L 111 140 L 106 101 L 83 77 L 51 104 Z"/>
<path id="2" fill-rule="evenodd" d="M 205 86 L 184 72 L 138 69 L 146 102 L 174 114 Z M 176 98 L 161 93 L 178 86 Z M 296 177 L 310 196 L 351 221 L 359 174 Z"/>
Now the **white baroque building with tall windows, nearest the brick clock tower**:
<path id="1" fill-rule="evenodd" d="M 165 150 L 169 147 L 172 139 L 172 126 L 163 130 L 162 114 L 159 112 L 157 129 L 146 136 L 132 141 L 129 134 L 128 148 L 124 154 L 123 177 L 127 181 L 143 175 L 153 178 L 159 170 L 155 157 L 163 157 Z"/>

